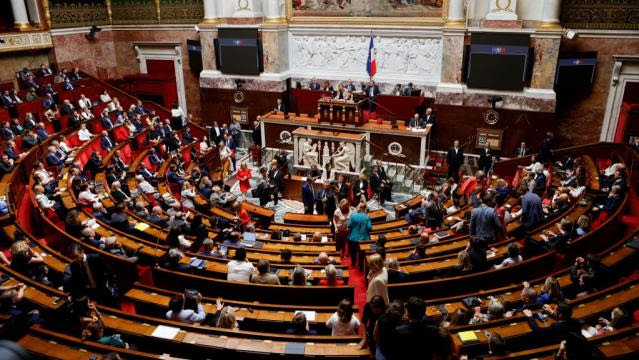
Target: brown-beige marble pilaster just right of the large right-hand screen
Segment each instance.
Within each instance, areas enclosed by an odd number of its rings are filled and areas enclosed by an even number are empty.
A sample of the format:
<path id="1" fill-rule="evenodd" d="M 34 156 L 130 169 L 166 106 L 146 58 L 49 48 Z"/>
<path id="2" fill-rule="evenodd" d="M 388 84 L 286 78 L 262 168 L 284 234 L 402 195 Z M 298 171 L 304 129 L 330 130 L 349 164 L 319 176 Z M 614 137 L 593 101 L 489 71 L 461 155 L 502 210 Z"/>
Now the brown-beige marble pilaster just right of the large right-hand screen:
<path id="1" fill-rule="evenodd" d="M 552 91 L 555 84 L 561 34 L 538 33 L 533 36 L 532 41 L 535 47 L 535 63 L 530 87 Z"/>

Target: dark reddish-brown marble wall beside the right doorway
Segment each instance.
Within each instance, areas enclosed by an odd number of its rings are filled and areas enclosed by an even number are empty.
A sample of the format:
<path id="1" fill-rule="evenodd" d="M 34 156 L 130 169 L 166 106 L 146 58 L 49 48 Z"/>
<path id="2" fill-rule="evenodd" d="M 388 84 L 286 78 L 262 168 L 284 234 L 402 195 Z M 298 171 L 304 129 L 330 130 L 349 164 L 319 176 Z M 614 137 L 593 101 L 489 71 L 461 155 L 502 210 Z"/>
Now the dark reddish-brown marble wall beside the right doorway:
<path id="1" fill-rule="evenodd" d="M 573 40 L 561 41 L 561 51 L 597 51 L 598 56 L 592 92 L 587 97 L 558 106 L 556 132 L 560 145 L 599 141 L 614 65 L 612 56 L 636 55 L 636 49 L 639 49 L 639 36 L 579 35 Z"/>

